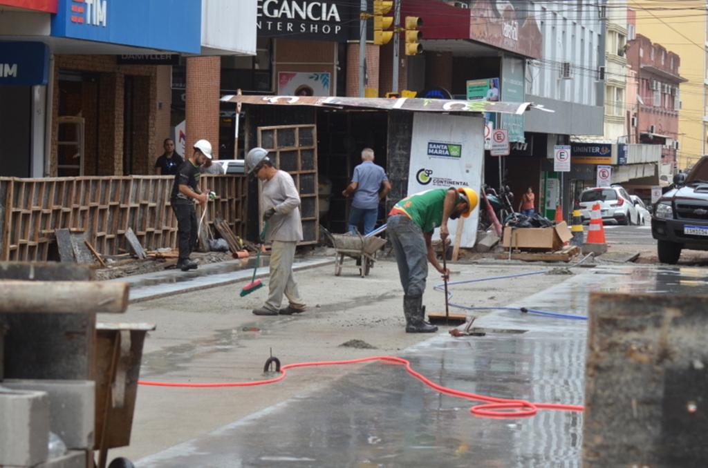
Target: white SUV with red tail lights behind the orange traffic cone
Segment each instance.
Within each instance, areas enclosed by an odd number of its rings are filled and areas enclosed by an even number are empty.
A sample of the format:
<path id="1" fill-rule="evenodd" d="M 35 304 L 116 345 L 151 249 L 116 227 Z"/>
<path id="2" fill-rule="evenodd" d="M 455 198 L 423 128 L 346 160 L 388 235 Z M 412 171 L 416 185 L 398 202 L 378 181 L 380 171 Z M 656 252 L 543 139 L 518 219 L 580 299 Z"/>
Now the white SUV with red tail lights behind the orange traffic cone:
<path id="1" fill-rule="evenodd" d="M 641 224 L 641 217 L 636 206 L 622 187 L 595 187 L 585 189 L 580 194 L 580 212 L 583 224 L 590 222 L 590 213 L 595 203 L 600 204 L 600 216 L 603 223 Z"/>

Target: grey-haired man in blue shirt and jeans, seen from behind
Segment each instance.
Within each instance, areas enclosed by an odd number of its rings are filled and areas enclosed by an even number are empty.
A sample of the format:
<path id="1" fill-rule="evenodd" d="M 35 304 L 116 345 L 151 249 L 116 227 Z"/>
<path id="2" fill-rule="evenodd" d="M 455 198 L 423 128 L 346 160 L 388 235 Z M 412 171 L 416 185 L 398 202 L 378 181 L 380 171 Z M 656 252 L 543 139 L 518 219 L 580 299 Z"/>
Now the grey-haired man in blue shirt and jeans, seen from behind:
<path id="1" fill-rule="evenodd" d="M 349 210 L 349 232 L 358 232 L 359 221 L 364 218 L 364 235 L 371 233 L 379 216 L 379 201 L 391 191 L 391 182 L 384 169 L 374 164 L 374 150 L 364 148 L 362 163 L 354 168 L 354 176 L 349 186 L 342 191 L 345 197 L 352 192 L 354 198 Z"/>

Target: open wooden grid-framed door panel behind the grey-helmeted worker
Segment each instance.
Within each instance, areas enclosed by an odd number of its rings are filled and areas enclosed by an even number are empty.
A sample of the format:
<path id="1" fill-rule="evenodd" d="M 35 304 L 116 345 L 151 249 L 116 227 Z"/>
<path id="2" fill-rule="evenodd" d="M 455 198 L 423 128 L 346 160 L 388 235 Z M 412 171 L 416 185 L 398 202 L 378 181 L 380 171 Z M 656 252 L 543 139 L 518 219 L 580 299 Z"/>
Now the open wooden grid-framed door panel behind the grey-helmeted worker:
<path id="1" fill-rule="evenodd" d="M 316 125 L 258 127 L 258 146 L 268 150 L 268 157 L 276 168 L 292 175 L 301 201 L 303 240 L 300 245 L 315 244 L 319 231 Z M 262 202 L 259 206 L 263 209 Z M 263 221 L 259 222 L 260 232 Z"/>

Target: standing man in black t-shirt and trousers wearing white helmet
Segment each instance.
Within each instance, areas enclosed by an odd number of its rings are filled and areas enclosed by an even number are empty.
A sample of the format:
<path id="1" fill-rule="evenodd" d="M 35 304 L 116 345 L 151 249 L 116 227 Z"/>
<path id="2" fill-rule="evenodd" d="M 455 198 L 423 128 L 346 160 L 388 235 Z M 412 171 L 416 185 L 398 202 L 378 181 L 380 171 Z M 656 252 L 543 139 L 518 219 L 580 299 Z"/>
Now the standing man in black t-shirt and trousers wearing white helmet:
<path id="1" fill-rule="evenodd" d="M 179 260 L 177 268 L 182 271 L 196 269 L 197 264 L 189 259 L 192 250 L 197 245 L 197 211 L 194 200 L 204 203 L 209 199 L 208 190 L 199 193 L 199 166 L 207 159 L 212 158 L 212 145 L 209 141 L 199 140 L 194 144 L 194 154 L 185 160 L 175 175 L 172 186 L 170 203 L 177 216 L 177 230 L 179 233 Z"/>

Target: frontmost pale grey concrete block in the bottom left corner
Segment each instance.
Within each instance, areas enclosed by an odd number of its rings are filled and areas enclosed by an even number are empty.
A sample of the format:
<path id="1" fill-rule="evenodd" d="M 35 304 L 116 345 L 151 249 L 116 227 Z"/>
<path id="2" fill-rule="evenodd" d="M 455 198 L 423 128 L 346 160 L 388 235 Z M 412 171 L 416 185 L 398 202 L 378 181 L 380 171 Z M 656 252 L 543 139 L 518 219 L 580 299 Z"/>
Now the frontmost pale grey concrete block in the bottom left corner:
<path id="1" fill-rule="evenodd" d="M 1 382 L 0 382 L 1 383 Z M 47 460 L 49 397 L 0 386 L 0 467 L 33 467 Z"/>

